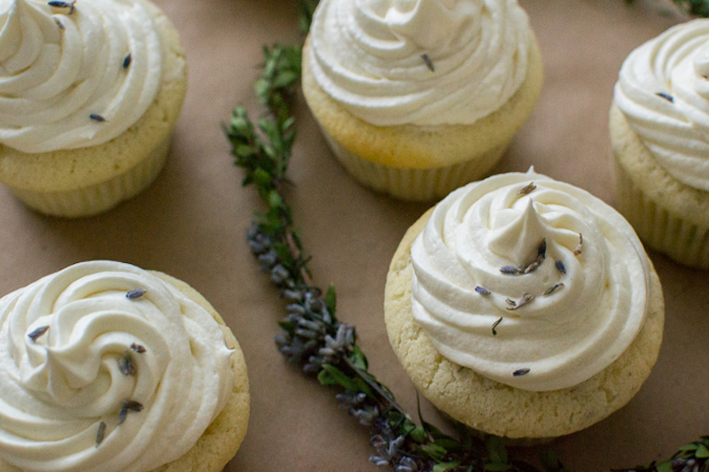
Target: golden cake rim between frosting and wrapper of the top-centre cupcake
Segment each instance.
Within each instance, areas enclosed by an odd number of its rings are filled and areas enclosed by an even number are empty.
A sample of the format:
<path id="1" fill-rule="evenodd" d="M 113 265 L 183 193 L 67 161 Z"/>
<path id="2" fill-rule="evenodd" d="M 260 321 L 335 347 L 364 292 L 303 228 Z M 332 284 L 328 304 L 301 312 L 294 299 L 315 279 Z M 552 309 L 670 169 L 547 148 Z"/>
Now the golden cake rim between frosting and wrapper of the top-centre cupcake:
<path id="1" fill-rule="evenodd" d="M 543 75 L 539 46 L 534 34 L 530 35 L 525 81 L 499 110 L 471 125 L 377 127 L 355 117 L 317 84 L 308 62 L 309 37 L 303 48 L 303 94 L 323 130 L 362 159 L 393 168 L 453 166 L 497 147 L 506 147 L 529 118 L 540 94 Z"/>

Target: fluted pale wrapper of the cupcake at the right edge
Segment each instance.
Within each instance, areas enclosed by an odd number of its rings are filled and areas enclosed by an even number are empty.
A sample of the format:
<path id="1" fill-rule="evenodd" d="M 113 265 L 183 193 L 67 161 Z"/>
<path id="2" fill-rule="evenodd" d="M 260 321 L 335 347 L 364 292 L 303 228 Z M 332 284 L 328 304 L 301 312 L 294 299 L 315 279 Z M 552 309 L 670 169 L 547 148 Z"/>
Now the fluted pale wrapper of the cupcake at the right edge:
<path id="1" fill-rule="evenodd" d="M 649 197 L 614 160 L 616 206 L 643 243 L 691 267 L 709 268 L 709 227 L 671 213 L 665 202 Z"/>

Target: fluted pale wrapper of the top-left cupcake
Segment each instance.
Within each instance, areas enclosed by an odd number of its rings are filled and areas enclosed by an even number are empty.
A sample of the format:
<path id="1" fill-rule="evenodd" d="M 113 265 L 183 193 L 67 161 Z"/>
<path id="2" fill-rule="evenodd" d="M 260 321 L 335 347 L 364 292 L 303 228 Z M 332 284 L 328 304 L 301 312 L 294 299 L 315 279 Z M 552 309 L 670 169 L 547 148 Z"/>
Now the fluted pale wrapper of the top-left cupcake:
<path id="1" fill-rule="evenodd" d="M 10 187 L 12 194 L 37 212 L 80 218 L 105 212 L 147 188 L 165 166 L 170 148 L 168 135 L 149 155 L 122 174 L 76 190 L 35 191 Z"/>

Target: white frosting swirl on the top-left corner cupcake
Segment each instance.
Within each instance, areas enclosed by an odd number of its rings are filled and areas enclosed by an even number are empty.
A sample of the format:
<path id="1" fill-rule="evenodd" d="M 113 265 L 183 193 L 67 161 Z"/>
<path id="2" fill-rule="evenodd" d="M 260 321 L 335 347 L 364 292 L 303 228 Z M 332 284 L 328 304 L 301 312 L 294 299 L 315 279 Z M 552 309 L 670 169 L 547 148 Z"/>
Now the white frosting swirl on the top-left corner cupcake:
<path id="1" fill-rule="evenodd" d="M 0 143 L 75 149 L 133 125 L 160 89 L 155 12 L 142 0 L 0 0 Z"/>

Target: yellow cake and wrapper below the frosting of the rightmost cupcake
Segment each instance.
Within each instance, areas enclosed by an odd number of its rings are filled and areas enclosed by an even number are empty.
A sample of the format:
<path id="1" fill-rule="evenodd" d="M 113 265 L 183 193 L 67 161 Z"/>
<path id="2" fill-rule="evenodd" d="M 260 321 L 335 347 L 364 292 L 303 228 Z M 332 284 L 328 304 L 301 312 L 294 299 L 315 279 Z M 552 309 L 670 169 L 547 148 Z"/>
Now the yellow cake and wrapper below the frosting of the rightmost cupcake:
<path id="1" fill-rule="evenodd" d="M 709 192 L 668 174 L 614 103 L 609 130 L 619 212 L 652 249 L 709 268 Z"/>

